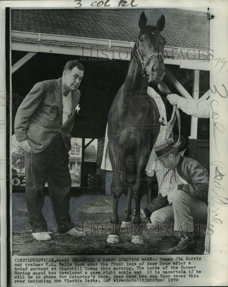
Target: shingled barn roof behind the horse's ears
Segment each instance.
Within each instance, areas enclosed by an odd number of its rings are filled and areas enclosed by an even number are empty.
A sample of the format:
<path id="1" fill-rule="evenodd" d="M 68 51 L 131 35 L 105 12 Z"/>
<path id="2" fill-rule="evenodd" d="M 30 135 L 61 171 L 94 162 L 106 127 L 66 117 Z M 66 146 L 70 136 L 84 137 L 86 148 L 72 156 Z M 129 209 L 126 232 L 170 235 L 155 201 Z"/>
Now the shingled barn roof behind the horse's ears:
<path id="1" fill-rule="evenodd" d="M 133 42 L 142 11 L 165 15 L 166 46 L 209 49 L 209 13 L 185 9 L 12 9 L 11 30 Z"/>

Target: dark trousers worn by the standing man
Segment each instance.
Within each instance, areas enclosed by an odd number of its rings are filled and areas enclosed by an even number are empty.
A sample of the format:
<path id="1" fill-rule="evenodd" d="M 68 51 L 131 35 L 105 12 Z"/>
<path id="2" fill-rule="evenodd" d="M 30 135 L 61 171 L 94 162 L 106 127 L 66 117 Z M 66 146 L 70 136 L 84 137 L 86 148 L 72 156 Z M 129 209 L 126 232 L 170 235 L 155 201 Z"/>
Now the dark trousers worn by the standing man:
<path id="1" fill-rule="evenodd" d="M 69 215 L 71 176 L 68 164 L 69 154 L 60 132 L 45 150 L 28 154 L 26 203 L 32 232 L 47 231 L 46 220 L 41 212 L 46 182 L 58 225 L 57 231 L 63 233 L 74 227 Z"/>

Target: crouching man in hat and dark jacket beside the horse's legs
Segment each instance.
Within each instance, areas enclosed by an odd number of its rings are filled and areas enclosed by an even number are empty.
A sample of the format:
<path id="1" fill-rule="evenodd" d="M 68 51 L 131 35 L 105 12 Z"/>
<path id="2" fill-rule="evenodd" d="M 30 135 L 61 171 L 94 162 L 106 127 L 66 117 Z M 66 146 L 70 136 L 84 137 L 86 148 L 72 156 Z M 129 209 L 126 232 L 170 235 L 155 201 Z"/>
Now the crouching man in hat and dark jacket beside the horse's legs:
<path id="1" fill-rule="evenodd" d="M 178 148 L 165 144 L 155 150 L 166 172 L 158 196 L 141 210 L 141 218 L 150 217 L 154 226 L 168 228 L 180 234 L 180 242 L 169 249 L 184 253 L 194 247 L 194 224 L 207 222 L 209 178 L 207 170 L 196 160 L 181 156 Z"/>

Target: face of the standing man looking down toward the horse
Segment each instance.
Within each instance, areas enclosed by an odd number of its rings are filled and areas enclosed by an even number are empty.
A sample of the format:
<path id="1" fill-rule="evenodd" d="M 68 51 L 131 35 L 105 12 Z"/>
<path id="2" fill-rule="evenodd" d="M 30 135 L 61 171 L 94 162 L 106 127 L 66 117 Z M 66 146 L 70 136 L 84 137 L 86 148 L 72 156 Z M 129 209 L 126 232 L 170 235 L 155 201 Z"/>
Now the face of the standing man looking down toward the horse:
<path id="1" fill-rule="evenodd" d="M 84 72 L 77 67 L 73 67 L 72 70 L 63 71 L 63 84 L 65 88 L 71 91 L 77 90 L 81 80 L 83 79 Z"/>

